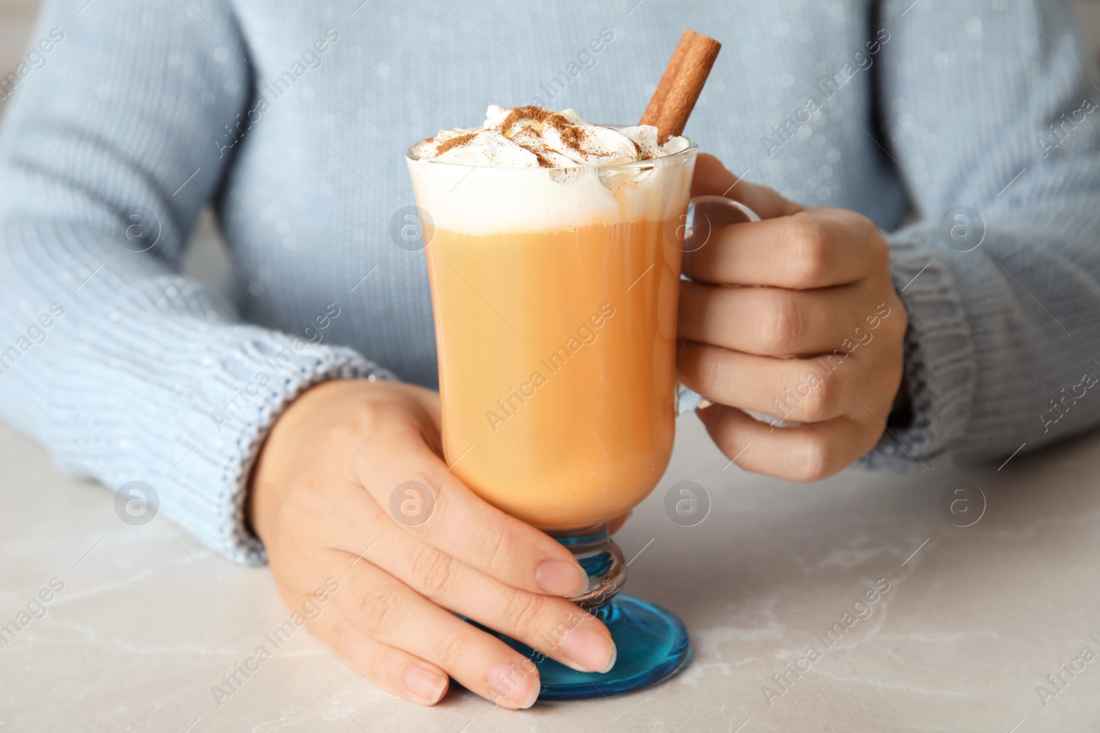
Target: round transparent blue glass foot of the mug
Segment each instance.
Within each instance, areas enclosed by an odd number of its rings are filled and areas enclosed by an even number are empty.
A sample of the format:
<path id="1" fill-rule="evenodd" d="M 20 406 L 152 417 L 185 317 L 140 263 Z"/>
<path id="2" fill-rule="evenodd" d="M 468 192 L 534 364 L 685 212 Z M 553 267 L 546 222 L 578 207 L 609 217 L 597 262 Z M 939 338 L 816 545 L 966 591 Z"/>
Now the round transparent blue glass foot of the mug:
<path id="1" fill-rule="evenodd" d="M 535 662 L 542 680 L 539 700 L 585 700 L 622 695 L 656 685 L 691 660 L 691 642 L 680 619 L 660 606 L 615 596 L 593 613 L 615 640 L 618 656 L 606 674 L 574 671 L 529 646 L 497 634 Z"/>

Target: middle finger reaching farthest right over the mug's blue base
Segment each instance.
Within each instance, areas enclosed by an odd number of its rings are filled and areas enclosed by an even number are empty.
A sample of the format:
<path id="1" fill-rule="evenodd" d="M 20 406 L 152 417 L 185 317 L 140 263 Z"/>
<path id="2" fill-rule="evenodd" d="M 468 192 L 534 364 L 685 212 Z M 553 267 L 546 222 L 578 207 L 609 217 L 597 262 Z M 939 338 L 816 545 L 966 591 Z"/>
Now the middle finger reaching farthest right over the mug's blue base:
<path id="1" fill-rule="evenodd" d="M 562 598 L 494 581 L 461 556 L 402 533 L 380 540 L 367 559 L 430 601 L 507 634 L 571 669 L 605 673 L 615 663 L 615 643 L 607 628 Z"/>

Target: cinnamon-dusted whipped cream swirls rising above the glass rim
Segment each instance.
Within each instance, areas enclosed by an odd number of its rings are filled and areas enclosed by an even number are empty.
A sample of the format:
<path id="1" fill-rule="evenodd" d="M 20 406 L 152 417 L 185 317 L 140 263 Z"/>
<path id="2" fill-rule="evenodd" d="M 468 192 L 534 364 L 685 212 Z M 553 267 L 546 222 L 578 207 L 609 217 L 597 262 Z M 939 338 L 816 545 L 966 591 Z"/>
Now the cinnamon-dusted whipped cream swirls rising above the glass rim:
<path id="1" fill-rule="evenodd" d="M 491 168 L 603 167 L 680 153 L 684 137 L 657 142 L 657 127 L 606 127 L 573 110 L 491 104 L 481 127 L 443 130 L 413 146 L 411 156 Z"/>

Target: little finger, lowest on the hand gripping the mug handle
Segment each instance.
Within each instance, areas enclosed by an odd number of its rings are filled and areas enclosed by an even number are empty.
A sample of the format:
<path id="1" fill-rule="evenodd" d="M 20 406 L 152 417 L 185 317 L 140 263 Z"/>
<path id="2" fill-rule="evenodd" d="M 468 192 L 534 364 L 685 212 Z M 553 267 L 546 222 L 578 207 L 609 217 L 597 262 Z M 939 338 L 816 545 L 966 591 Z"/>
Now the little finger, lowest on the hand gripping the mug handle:
<path id="1" fill-rule="evenodd" d="M 838 473 L 875 447 L 883 430 L 870 412 L 802 427 L 773 427 L 723 404 L 700 410 L 698 417 L 740 468 L 801 482 Z"/>

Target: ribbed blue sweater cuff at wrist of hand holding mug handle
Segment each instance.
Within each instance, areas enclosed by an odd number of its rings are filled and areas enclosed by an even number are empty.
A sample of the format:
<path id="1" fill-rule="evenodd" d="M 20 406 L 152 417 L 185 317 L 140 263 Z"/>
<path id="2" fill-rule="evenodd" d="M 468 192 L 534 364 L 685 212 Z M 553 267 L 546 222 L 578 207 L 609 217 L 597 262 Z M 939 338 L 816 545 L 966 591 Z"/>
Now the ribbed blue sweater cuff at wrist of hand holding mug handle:
<path id="1" fill-rule="evenodd" d="M 894 288 L 909 315 L 904 358 L 913 418 L 884 431 L 858 462 L 865 468 L 925 469 L 958 445 L 975 395 L 974 340 L 963 301 L 934 224 L 917 224 L 887 240 Z"/>

